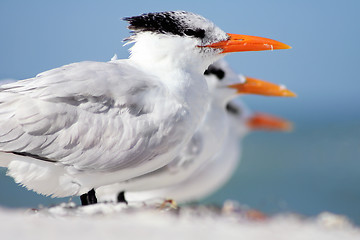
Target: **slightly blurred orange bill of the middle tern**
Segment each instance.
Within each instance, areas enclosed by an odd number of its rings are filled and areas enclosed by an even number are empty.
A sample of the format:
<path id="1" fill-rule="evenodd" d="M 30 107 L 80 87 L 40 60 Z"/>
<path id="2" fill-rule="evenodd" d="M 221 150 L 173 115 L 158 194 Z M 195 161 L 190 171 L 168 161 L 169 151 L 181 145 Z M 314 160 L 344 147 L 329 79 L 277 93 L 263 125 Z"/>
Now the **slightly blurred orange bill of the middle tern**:
<path id="1" fill-rule="evenodd" d="M 236 89 L 239 94 L 296 97 L 295 93 L 286 89 L 284 86 L 251 77 L 245 77 L 244 83 L 232 84 L 227 87 Z"/>

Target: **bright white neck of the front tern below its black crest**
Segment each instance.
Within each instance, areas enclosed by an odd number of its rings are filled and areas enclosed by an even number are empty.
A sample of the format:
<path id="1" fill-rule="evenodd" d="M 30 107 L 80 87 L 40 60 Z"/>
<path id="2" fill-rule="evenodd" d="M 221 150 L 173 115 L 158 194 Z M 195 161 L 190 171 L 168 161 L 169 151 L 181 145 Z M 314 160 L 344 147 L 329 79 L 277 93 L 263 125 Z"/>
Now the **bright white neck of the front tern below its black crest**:
<path id="1" fill-rule="evenodd" d="M 196 43 L 194 38 L 138 33 L 130 49 L 130 60 L 156 76 L 189 106 L 194 117 L 202 118 L 209 102 L 203 73 L 219 54 L 205 58 Z"/>

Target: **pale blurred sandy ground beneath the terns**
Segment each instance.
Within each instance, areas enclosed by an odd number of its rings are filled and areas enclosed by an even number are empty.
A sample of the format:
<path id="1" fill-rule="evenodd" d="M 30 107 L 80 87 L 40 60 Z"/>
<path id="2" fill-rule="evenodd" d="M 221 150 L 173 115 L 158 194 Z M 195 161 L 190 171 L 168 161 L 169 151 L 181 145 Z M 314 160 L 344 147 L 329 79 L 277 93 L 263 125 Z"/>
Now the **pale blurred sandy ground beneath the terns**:
<path id="1" fill-rule="evenodd" d="M 344 217 L 322 213 L 266 217 L 226 202 L 221 208 L 161 203 L 66 203 L 39 209 L 0 209 L 1 239 L 360 239 Z"/>

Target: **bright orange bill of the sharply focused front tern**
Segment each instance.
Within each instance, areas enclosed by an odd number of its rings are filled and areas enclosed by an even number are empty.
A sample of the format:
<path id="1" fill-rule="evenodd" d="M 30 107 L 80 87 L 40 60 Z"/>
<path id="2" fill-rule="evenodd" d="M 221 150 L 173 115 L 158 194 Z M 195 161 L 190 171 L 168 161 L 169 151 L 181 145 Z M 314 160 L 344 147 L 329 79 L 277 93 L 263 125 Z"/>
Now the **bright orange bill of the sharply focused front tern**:
<path id="1" fill-rule="evenodd" d="M 222 53 L 289 49 L 290 46 L 269 38 L 228 33 L 229 39 L 205 47 L 221 48 Z"/>

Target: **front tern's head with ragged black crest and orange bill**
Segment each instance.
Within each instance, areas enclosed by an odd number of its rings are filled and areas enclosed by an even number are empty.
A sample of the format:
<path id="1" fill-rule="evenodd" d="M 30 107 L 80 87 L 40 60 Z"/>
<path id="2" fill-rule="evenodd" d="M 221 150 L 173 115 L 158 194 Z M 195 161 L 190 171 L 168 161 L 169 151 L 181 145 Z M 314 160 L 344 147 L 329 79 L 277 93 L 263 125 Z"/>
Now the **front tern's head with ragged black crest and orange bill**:
<path id="1" fill-rule="evenodd" d="M 274 40 L 228 34 L 206 18 L 185 11 L 147 13 L 124 18 L 135 42 L 133 58 L 196 64 L 204 71 L 222 53 L 289 48 Z M 251 45 L 251 46 L 250 46 Z"/>

